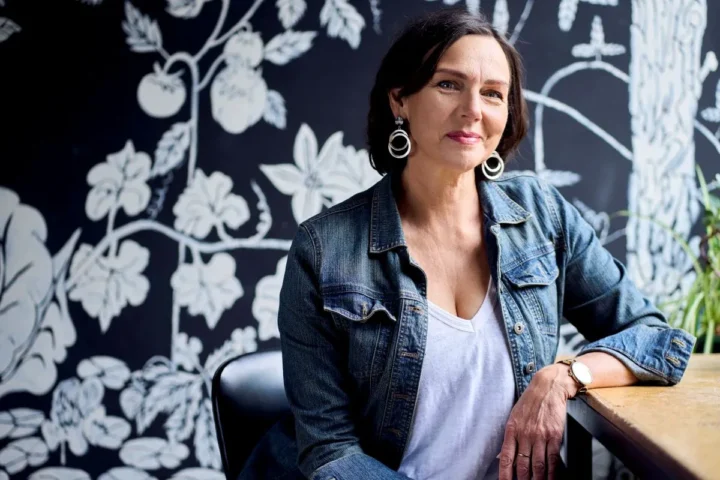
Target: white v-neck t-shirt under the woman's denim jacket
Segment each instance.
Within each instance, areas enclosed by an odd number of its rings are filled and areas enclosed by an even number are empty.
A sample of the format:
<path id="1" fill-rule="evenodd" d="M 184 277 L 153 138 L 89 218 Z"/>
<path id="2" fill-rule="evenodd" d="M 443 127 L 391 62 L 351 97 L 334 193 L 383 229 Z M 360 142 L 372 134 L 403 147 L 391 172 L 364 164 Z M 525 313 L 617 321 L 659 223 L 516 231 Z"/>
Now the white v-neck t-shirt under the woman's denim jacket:
<path id="1" fill-rule="evenodd" d="M 410 438 L 398 471 L 414 480 L 498 478 L 515 402 L 510 349 L 492 280 L 465 320 L 428 301 L 428 334 Z"/>

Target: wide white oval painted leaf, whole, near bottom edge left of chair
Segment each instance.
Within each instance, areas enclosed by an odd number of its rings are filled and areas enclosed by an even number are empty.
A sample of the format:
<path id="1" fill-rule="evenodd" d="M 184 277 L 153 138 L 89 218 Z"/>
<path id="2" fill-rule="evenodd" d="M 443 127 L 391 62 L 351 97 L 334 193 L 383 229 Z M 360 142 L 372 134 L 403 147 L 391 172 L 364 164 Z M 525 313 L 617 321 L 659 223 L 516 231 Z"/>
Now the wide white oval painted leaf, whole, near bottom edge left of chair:
<path id="1" fill-rule="evenodd" d="M 164 438 L 143 437 L 129 440 L 120 449 L 125 465 L 143 470 L 177 468 L 190 450 L 182 443 L 168 443 Z"/>

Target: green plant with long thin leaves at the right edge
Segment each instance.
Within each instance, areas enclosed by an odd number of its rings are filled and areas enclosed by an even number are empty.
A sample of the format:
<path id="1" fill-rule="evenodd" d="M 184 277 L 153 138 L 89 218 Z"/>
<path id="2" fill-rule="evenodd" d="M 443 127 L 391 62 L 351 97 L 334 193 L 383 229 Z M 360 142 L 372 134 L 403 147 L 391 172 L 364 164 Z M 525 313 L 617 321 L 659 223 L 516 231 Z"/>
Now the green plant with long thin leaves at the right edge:
<path id="1" fill-rule="evenodd" d="M 660 302 L 659 307 L 668 314 L 673 327 L 698 337 L 698 349 L 703 353 L 717 350 L 720 340 L 720 198 L 711 193 L 700 169 L 697 169 L 702 204 L 705 234 L 700 239 L 696 255 L 688 242 L 669 226 L 643 215 L 627 210 L 618 212 L 621 216 L 634 216 L 649 220 L 669 232 L 692 261 L 695 281 L 687 294 L 680 299 Z M 716 188 L 720 186 L 720 174 L 715 176 Z"/>

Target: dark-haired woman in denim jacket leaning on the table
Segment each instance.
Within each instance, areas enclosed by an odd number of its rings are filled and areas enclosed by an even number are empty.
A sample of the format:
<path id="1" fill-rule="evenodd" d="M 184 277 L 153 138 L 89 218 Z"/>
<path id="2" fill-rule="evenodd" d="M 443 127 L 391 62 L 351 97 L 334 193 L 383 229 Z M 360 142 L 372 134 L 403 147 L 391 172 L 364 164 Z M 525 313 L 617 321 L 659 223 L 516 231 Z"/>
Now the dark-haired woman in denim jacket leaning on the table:
<path id="1" fill-rule="evenodd" d="M 310 479 L 553 478 L 567 401 L 664 385 L 669 328 L 553 187 L 500 176 L 526 133 L 521 61 L 481 17 L 412 23 L 370 98 L 387 174 L 300 225 L 278 324 Z M 555 363 L 565 317 L 590 341 Z"/>

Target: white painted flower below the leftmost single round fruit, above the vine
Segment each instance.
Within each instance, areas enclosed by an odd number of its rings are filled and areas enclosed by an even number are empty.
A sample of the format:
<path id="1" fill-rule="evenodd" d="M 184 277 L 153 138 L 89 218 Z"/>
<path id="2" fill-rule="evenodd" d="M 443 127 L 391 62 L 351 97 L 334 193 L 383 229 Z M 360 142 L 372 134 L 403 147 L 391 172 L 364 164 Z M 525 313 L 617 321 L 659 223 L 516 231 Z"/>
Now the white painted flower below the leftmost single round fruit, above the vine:
<path id="1" fill-rule="evenodd" d="M 132 140 L 125 148 L 107 156 L 107 161 L 95 165 L 88 172 L 92 187 L 85 202 L 90 220 L 101 220 L 110 211 L 122 207 L 127 215 L 137 215 L 150 201 L 150 157 L 135 152 Z"/>

